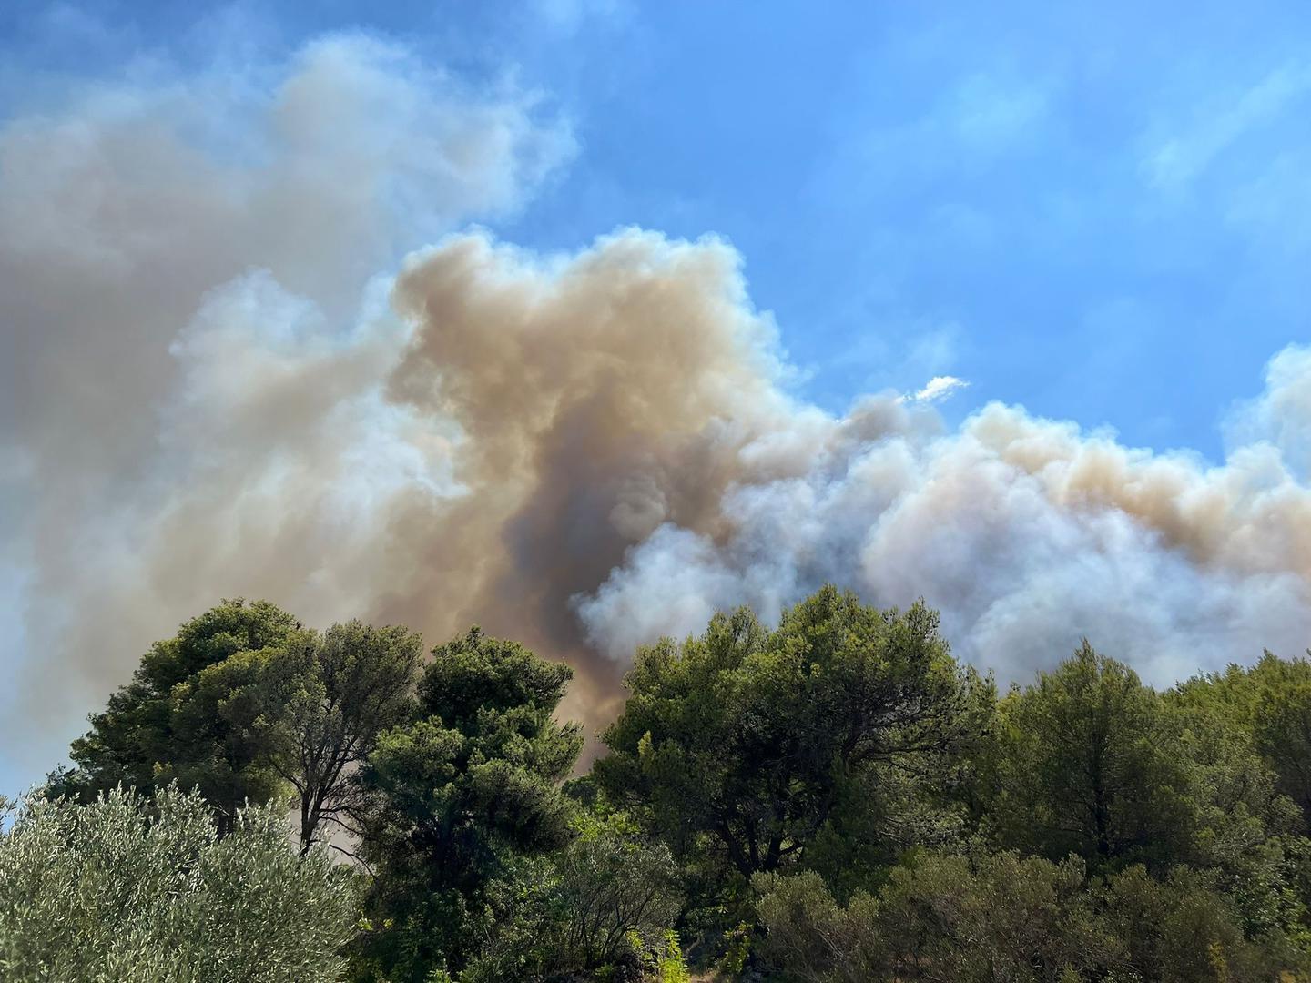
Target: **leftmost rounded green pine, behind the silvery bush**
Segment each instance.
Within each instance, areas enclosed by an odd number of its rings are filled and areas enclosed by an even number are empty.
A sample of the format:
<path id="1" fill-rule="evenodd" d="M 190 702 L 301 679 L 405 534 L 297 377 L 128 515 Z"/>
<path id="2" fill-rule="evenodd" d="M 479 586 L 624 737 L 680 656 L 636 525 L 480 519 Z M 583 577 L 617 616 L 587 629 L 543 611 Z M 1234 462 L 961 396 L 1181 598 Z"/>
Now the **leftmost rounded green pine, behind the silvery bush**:
<path id="1" fill-rule="evenodd" d="M 262 668 L 257 653 L 299 626 L 269 602 L 240 599 L 186 621 L 151 646 L 132 680 L 90 717 L 90 730 L 72 744 L 76 767 L 52 775 L 51 792 L 93 801 L 119 784 L 149 790 L 177 781 L 199 788 L 225 831 L 248 800 L 277 792 L 278 776 L 240 721 Z"/>

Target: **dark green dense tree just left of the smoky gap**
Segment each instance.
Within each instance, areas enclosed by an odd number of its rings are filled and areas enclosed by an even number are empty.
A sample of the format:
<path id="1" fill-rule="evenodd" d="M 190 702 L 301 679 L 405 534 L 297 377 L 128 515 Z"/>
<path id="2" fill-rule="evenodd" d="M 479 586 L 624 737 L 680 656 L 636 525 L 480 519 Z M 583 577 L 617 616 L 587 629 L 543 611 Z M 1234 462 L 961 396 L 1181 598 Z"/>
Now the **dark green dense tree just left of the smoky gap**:
<path id="1" fill-rule="evenodd" d="M 359 772 L 362 853 L 378 874 L 361 978 L 461 969 L 569 843 L 560 782 L 582 737 L 552 714 L 572 675 L 477 628 L 433 650 L 417 720 L 383 734 Z"/>

